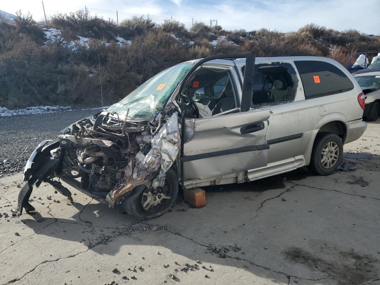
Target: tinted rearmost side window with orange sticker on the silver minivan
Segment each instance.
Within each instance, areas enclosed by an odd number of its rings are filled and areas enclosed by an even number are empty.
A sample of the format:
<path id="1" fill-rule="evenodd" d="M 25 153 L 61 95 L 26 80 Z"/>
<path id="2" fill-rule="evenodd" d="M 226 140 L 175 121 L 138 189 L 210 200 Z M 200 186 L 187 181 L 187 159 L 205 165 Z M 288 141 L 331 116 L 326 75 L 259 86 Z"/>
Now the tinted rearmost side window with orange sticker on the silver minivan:
<path id="1" fill-rule="evenodd" d="M 342 93 L 354 88 L 350 78 L 331 63 L 297 60 L 294 64 L 301 76 L 306 99 Z"/>

